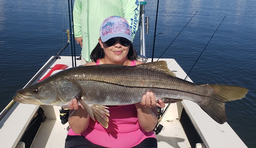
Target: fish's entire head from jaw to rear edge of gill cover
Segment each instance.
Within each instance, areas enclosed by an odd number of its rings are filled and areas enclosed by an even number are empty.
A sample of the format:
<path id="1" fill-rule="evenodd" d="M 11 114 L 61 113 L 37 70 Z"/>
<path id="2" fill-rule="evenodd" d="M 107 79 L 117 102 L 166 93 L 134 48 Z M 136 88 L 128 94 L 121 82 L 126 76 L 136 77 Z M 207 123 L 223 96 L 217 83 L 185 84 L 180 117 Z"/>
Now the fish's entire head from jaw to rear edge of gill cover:
<path id="1" fill-rule="evenodd" d="M 13 100 L 23 104 L 65 106 L 80 93 L 81 88 L 76 82 L 51 76 L 32 86 L 17 90 Z"/>

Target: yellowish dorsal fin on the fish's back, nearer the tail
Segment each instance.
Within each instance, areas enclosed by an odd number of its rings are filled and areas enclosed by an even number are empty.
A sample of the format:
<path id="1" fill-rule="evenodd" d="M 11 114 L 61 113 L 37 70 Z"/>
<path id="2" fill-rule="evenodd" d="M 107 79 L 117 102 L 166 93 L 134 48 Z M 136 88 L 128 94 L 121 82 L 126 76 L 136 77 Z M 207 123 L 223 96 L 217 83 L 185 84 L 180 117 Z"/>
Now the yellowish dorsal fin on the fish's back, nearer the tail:
<path id="1" fill-rule="evenodd" d="M 175 73 L 170 71 L 170 69 L 167 66 L 166 61 L 148 62 L 148 63 L 143 63 L 143 64 L 136 65 L 136 67 L 152 69 L 152 70 L 156 70 L 158 72 L 162 72 L 162 73 L 165 73 L 165 74 L 168 74 L 168 75 L 171 75 L 171 76 L 176 76 Z"/>

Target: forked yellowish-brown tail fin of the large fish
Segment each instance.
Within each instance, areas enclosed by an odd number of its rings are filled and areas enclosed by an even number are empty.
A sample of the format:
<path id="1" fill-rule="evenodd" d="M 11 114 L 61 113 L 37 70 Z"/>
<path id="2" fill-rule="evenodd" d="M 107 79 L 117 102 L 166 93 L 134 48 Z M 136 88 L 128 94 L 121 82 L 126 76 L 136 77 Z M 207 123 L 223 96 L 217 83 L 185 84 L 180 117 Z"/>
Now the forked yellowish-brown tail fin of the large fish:
<path id="1" fill-rule="evenodd" d="M 199 106 L 219 124 L 227 121 L 225 102 L 240 100 L 248 93 L 248 89 L 232 85 L 210 85 L 214 93 L 208 96 L 208 104 Z"/>

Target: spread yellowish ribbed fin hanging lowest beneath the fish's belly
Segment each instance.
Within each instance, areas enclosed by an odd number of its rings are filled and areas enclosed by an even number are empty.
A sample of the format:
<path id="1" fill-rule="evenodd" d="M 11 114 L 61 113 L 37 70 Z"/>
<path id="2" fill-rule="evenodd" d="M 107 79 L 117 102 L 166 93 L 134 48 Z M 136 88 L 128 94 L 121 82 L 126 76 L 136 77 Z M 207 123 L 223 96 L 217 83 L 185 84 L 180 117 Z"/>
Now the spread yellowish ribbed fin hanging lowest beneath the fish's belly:
<path id="1" fill-rule="evenodd" d="M 92 112 L 98 122 L 103 127 L 108 128 L 109 119 L 107 116 L 110 116 L 109 111 L 106 109 L 108 107 L 102 105 L 91 105 L 90 107 L 92 108 Z"/>

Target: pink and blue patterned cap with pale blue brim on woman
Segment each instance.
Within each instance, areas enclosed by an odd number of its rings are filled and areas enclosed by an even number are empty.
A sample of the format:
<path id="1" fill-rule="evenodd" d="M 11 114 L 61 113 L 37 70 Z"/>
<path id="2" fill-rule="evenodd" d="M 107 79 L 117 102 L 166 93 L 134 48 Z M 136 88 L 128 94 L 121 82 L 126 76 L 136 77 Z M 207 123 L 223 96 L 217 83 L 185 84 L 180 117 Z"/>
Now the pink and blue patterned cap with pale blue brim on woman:
<path id="1" fill-rule="evenodd" d="M 100 38 L 102 42 L 106 42 L 114 37 L 124 37 L 132 41 L 130 25 L 120 16 L 110 16 L 100 26 Z"/>

